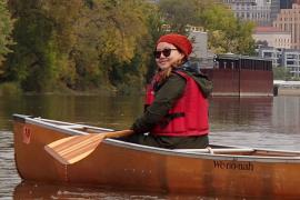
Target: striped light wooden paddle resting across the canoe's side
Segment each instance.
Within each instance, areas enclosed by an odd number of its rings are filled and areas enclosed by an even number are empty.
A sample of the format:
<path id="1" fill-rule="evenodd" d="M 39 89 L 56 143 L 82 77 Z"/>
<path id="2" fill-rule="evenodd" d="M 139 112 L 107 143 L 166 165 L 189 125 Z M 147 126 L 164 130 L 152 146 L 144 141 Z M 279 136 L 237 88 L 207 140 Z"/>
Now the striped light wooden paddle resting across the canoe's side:
<path id="1" fill-rule="evenodd" d="M 88 157 L 106 138 L 132 134 L 132 130 L 89 133 L 63 138 L 44 146 L 44 150 L 63 164 L 72 164 Z"/>

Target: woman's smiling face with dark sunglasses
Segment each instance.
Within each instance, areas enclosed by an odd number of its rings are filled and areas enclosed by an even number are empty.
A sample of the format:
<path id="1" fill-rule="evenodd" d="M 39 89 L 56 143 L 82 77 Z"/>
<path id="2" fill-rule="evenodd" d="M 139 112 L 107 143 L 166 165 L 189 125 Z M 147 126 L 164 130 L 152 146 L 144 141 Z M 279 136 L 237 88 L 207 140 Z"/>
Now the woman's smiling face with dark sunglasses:
<path id="1" fill-rule="evenodd" d="M 177 66 L 184 58 L 183 53 L 168 42 L 158 43 L 154 56 L 158 67 L 162 70 Z"/>

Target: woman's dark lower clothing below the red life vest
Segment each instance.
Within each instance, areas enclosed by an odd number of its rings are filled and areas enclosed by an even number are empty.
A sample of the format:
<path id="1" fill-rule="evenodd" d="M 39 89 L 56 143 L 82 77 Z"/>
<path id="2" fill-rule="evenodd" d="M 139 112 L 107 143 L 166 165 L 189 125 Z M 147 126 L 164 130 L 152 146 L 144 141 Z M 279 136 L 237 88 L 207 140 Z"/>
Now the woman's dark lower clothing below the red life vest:
<path id="1" fill-rule="evenodd" d="M 209 137 L 192 136 L 192 137 L 164 137 L 153 134 L 131 134 L 121 140 L 139 143 L 143 146 L 159 147 L 166 149 L 202 149 L 209 146 Z"/>

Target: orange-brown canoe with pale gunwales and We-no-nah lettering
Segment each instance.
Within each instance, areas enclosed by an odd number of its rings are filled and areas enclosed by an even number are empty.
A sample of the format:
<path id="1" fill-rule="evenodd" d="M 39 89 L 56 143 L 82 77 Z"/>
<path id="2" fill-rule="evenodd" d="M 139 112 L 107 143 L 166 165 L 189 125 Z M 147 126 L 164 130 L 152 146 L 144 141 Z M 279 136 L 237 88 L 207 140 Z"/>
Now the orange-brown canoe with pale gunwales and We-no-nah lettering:
<path id="1" fill-rule="evenodd" d="M 16 166 L 24 180 L 147 192 L 221 197 L 300 197 L 300 151 L 210 144 L 161 149 L 104 139 L 84 159 L 62 164 L 44 146 L 70 136 L 113 131 L 13 114 Z"/>

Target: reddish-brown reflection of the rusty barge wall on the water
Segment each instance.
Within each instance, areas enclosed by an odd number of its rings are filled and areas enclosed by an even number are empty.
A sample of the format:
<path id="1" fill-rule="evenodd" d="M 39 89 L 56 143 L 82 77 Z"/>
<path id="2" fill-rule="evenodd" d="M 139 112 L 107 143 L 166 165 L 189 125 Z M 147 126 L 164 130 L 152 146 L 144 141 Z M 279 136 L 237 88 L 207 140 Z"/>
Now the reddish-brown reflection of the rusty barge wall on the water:
<path id="1" fill-rule="evenodd" d="M 212 129 L 240 130 L 249 126 L 263 127 L 271 117 L 273 98 L 212 98 L 210 122 Z"/>

